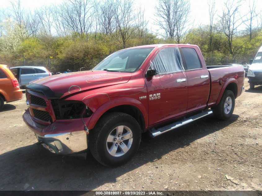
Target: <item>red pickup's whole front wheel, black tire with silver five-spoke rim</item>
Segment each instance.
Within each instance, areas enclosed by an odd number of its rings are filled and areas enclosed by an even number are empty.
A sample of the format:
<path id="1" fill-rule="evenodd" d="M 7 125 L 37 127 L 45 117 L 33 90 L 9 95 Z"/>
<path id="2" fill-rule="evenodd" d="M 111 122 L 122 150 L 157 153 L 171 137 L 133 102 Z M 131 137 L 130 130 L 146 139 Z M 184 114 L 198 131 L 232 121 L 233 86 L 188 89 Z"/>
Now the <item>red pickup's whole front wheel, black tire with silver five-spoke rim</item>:
<path id="1" fill-rule="evenodd" d="M 132 116 L 113 112 L 102 117 L 89 136 L 94 158 L 105 166 L 118 166 L 135 155 L 141 141 L 141 128 Z"/>

